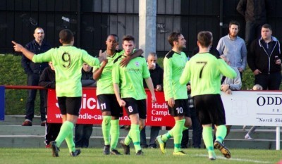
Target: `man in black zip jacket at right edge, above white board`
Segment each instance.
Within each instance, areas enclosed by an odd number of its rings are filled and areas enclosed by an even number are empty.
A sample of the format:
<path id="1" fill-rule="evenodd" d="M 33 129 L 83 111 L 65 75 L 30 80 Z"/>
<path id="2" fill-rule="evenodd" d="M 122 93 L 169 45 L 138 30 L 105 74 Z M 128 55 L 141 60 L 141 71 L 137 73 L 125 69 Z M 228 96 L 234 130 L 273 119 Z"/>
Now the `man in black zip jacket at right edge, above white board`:
<path id="1" fill-rule="evenodd" d="M 276 37 L 271 36 L 271 25 L 262 25 L 262 37 L 255 39 L 247 55 L 247 63 L 255 75 L 255 84 L 263 90 L 278 90 L 281 84 L 281 49 Z"/>

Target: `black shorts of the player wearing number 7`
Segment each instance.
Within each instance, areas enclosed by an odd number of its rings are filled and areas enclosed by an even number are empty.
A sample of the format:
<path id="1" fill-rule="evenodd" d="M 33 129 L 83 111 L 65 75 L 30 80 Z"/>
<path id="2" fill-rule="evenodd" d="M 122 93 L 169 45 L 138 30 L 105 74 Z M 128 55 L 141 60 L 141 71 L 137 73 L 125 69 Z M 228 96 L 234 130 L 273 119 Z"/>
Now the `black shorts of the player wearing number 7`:
<path id="1" fill-rule="evenodd" d="M 193 97 L 200 123 L 202 125 L 225 125 L 225 111 L 220 94 L 204 94 Z"/>

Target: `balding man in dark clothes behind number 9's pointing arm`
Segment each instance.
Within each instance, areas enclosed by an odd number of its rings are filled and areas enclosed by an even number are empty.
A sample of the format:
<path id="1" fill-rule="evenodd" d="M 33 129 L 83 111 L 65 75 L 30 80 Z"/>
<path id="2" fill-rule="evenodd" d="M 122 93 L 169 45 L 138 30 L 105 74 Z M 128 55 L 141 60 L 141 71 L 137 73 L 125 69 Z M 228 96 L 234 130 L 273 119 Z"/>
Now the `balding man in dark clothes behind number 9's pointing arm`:
<path id="1" fill-rule="evenodd" d="M 35 39 L 32 42 L 29 42 L 25 45 L 25 48 L 29 51 L 32 51 L 35 54 L 44 53 L 51 49 L 51 46 L 44 41 L 44 30 L 42 27 L 37 27 L 35 29 L 35 33 L 33 34 Z M 30 59 L 26 58 L 24 55 L 22 56 L 22 66 L 27 74 L 27 85 L 30 86 L 38 86 L 39 77 L 44 70 L 47 68 L 48 63 L 33 63 Z M 36 98 L 36 89 L 27 90 L 27 102 L 25 105 L 25 122 L 23 122 L 23 126 L 32 126 L 32 119 L 35 113 L 35 98 Z M 46 122 L 46 111 L 44 108 L 44 97 L 45 90 L 39 90 L 40 93 L 40 115 L 41 115 L 41 125 L 45 126 Z"/>

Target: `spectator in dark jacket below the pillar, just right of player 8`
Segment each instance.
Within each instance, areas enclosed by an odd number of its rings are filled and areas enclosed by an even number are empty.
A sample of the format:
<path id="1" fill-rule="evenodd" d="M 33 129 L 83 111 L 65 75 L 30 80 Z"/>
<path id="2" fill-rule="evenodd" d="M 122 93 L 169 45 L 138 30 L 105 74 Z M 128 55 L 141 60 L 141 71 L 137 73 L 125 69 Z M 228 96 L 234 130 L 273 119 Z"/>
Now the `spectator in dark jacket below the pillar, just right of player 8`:
<path id="1" fill-rule="evenodd" d="M 159 67 L 157 64 L 157 54 L 156 53 L 149 53 L 147 58 L 147 65 L 148 69 L 151 75 L 152 82 L 154 84 L 154 89 L 157 92 L 161 92 L 163 90 L 163 80 L 164 80 L 164 70 Z M 147 88 L 146 82 L 144 82 L 144 87 Z M 146 141 L 146 128 L 143 128 L 140 132 L 140 145 L 142 148 L 147 148 L 147 141 Z M 151 134 L 150 134 L 150 140 L 149 140 L 149 148 L 156 148 L 156 138 L 159 135 L 159 130 L 161 130 L 161 127 L 151 127 Z"/>

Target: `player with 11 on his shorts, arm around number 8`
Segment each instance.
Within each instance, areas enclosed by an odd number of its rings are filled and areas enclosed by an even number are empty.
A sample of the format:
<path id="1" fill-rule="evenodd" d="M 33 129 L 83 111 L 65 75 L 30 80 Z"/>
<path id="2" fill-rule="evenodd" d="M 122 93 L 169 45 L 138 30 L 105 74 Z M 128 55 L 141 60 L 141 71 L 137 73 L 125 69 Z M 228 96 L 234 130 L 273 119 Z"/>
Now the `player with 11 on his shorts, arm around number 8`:
<path id="1" fill-rule="evenodd" d="M 114 85 L 112 80 L 112 70 L 114 60 L 121 56 L 124 51 L 116 50 L 118 46 L 118 36 L 116 34 L 109 34 L 106 39 L 106 51 L 102 56 L 106 56 L 107 62 L 103 62 L 93 68 L 94 80 L 97 80 L 97 98 L 99 106 L 102 110 L 102 133 L 104 137 L 104 154 L 121 155 L 116 150 L 116 145 L 119 138 L 119 118 L 123 116 L 123 108 L 119 106 L 116 96 L 114 94 Z M 131 58 L 142 55 L 143 51 L 138 49 L 128 58 L 123 58 L 123 65 L 127 65 Z M 121 61 L 122 62 L 122 61 Z"/>

